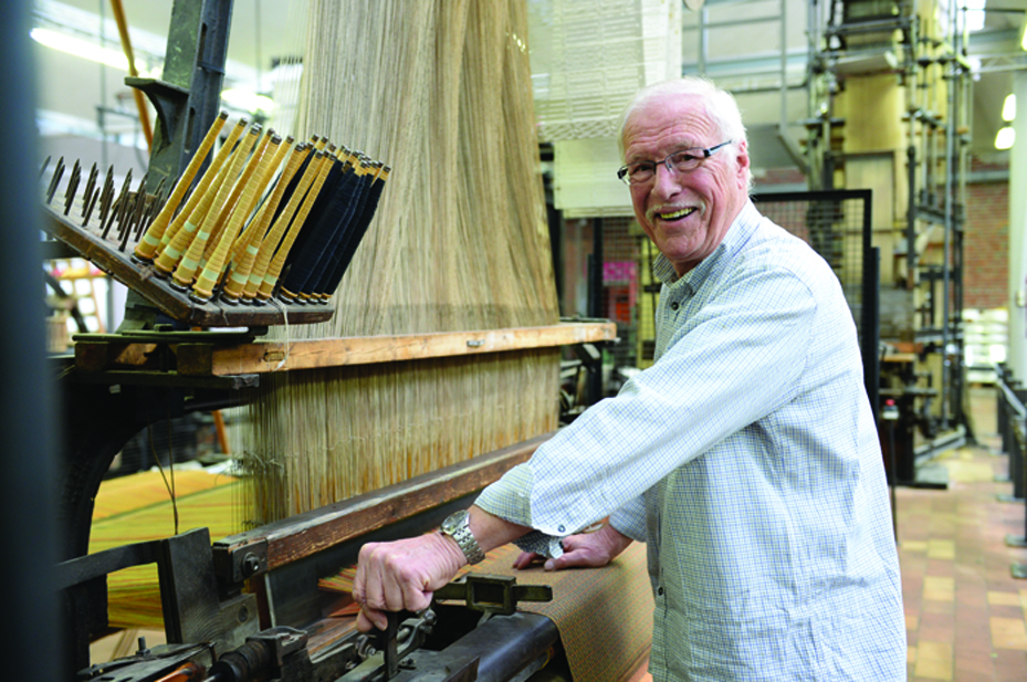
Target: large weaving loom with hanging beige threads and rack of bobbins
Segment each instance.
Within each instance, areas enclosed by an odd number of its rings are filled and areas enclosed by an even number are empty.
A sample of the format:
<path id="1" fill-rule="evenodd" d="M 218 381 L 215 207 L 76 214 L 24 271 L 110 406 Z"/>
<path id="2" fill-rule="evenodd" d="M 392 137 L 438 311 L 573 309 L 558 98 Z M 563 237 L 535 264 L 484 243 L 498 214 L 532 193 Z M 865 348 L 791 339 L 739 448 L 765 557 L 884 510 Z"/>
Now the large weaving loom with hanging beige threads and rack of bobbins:
<path id="1" fill-rule="evenodd" d="M 105 602 L 120 590 L 106 575 L 156 564 L 174 644 L 83 679 L 524 680 L 563 652 L 574 680 L 626 678 L 648 651 L 642 550 L 587 574 L 515 576 L 554 587 L 548 610 L 497 609 L 526 592 L 473 588 L 488 597 L 406 615 L 378 640 L 353 631 L 345 596 L 318 588 L 365 542 L 430 531 L 525 461 L 558 427 L 560 348 L 616 329 L 558 318 L 522 2 L 315 1 L 305 25 L 291 132 L 310 145 L 238 122 L 214 151 L 227 124 L 211 114 L 185 146 L 195 154 L 154 174 L 177 178 L 167 199 L 144 182 L 105 190 L 99 171 L 78 195 L 81 169 L 60 206 L 61 174 L 45 189 L 59 240 L 201 328 L 150 316 L 76 337 L 69 401 L 95 405 L 78 407 L 74 428 L 92 444 L 69 455 L 64 483 L 70 668 L 114 622 Z M 210 56 L 198 48 L 196 60 Z M 339 82 L 363 96 L 317 85 Z M 90 223 L 94 201 L 97 228 L 65 216 Z M 82 516 L 114 445 L 172 412 L 227 405 L 245 405 L 252 424 L 233 486 L 249 529 L 217 539 L 207 522 L 120 547 L 97 537 L 104 550 L 84 556 Z M 97 436 L 111 412 L 124 423 Z M 503 563 L 509 553 L 490 573 Z M 597 638 L 589 625 L 608 609 L 618 618 Z"/>

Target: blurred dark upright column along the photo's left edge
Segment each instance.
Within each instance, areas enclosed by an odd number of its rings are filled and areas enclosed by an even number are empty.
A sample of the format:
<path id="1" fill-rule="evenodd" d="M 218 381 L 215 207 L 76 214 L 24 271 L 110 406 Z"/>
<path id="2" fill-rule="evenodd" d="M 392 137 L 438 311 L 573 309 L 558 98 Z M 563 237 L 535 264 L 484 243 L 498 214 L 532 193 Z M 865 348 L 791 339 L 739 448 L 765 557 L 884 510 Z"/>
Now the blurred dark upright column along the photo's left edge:
<path id="1" fill-rule="evenodd" d="M 0 523 L 3 560 L 0 609 L 17 652 L 7 657 L 7 680 L 56 680 L 60 662 L 53 571 L 54 416 L 45 367 L 42 248 L 35 186 L 39 157 L 33 93 L 36 88 L 29 42 L 31 2 L 4 2 L 0 10 Z"/>

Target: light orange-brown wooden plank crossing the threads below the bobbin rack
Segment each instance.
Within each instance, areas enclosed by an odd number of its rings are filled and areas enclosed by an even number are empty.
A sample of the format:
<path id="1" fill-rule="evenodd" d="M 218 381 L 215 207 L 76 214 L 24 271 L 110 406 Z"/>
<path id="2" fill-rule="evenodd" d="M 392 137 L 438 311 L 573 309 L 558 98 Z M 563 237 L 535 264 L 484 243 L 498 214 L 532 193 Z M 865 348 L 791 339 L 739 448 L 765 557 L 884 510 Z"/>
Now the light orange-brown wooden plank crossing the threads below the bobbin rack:
<path id="1" fill-rule="evenodd" d="M 262 342 L 230 347 L 181 344 L 178 346 L 178 369 L 182 374 L 199 376 L 263 374 L 280 370 L 280 365 L 281 370 L 317 369 L 551 348 L 616 338 L 617 326 L 614 323 L 585 322 L 482 332 L 321 338 L 289 344 Z"/>

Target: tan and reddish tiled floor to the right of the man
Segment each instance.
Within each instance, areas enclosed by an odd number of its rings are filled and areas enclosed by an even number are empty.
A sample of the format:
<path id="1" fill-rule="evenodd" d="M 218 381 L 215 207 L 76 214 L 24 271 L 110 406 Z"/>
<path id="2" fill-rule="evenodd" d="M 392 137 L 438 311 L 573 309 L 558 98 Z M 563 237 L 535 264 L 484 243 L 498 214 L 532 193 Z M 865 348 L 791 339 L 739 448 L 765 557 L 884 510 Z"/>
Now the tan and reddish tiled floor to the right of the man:
<path id="1" fill-rule="evenodd" d="M 1027 681 L 1027 580 L 1013 564 L 1027 549 L 1007 547 L 1023 536 L 1023 502 L 999 494 L 1012 483 L 1008 458 L 996 454 L 995 391 L 971 391 L 977 444 L 945 452 L 944 491 L 899 487 L 899 558 L 909 636 L 909 678 L 914 682 Z"/>

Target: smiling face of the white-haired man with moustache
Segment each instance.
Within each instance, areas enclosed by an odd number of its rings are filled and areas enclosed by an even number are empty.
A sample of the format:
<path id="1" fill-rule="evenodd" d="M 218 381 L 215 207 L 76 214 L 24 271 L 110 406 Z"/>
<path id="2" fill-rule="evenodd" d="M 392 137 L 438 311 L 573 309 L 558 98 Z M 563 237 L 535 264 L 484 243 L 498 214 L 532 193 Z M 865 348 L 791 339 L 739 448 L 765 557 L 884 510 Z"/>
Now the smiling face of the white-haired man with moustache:
<path id="1" fill-rule="evenodd" d="M 713 253 L 748 199 L 748 153 L 744 141 L 727 145 L 685 172 L 660 161 L 726 141 L 720 136 L 696 95 L 654 96 L 631 112 L 623 128 L 625 162 L 657 161 L 652 180 L 631 185 L 635 216 L 679 275 Z"/>

